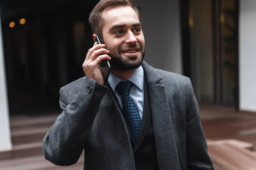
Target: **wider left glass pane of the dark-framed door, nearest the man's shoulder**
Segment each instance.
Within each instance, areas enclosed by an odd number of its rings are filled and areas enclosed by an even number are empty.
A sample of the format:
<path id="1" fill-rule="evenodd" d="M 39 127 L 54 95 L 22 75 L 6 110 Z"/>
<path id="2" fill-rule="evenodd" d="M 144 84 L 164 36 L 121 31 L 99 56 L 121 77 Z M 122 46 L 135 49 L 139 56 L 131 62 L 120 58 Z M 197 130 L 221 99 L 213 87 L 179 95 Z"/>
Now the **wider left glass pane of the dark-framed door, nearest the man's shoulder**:
<path id="1" fill-rule="evenodd" d="M 191 0 L 189 15 L 192 85 L 198 103 L 213 104 L 212 1 Z"/>

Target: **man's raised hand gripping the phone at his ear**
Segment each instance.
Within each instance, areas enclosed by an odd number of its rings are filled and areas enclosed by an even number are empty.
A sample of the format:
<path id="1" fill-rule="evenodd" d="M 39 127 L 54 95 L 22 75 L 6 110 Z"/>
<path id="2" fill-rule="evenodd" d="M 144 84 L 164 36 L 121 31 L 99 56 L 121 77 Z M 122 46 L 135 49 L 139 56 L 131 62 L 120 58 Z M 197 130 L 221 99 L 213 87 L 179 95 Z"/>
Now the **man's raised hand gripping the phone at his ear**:
<path id="1" fill-rule="evenodd" d="M 102 61 L 111 60 L 111 57 L 108 56 L 109 51 L 105 49 L 105 47 L 105 44 L 97 44 L 95 42 L 93 47 L 88 50 L 82 65 L 86 77 L 94 79 L 101 85 L 104 85 L 104 82 L 108 81 L 108 72 L 110 72 L 110 65 L 109 67 L 103 67 L 102 65 L 104 64 Z M 102 65 L 102 67 L 100 67 L 100 65 Z M 105 70 L 102 68 L 105 68 Z M 103 72 L 107 74 L 104 74 Z"/>

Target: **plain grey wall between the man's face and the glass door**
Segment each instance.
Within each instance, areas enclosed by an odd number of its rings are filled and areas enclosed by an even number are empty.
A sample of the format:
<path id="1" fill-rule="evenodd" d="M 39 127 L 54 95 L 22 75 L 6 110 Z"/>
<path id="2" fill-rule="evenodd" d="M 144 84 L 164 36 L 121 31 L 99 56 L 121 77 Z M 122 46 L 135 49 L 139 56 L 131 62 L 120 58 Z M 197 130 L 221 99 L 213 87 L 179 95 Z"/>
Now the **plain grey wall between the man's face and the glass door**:
<path id="1" fill-rule="evenodd" d="M 145 61 L 159 69 L 182 74 L 179 0 L 136 0 L 145 36 Z"/>

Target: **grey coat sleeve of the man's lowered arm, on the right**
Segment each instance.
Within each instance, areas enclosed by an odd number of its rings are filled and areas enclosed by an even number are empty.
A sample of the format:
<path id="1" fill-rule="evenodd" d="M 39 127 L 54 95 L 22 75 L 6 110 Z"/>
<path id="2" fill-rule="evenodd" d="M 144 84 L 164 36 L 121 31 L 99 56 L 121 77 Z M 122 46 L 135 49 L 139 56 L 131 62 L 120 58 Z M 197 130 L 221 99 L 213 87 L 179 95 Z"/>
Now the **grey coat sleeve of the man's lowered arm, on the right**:
<path id="1" fill-rule="evenodd" d="M 188 170 L 214 170 L 207 151 L 207 143 L 201 126 L 198 103 L 192 84 L 187 78 L 186 99 L 186 153 Z"/>

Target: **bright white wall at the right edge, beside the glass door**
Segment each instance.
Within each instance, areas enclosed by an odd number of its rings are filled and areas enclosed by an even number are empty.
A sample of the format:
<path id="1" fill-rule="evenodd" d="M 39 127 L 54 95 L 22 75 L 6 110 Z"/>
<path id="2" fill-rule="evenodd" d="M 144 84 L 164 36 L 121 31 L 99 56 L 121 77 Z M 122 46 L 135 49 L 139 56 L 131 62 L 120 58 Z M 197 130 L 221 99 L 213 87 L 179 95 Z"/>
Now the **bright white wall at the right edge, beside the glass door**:
<path id="1" fill-rule="evenodd" d="M 256 0 L 240 0 L 240 110 L 256 111 Z"/>

